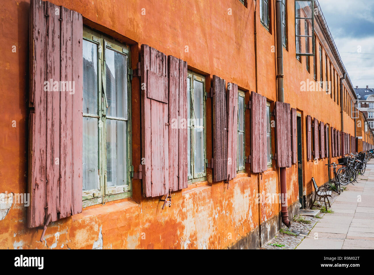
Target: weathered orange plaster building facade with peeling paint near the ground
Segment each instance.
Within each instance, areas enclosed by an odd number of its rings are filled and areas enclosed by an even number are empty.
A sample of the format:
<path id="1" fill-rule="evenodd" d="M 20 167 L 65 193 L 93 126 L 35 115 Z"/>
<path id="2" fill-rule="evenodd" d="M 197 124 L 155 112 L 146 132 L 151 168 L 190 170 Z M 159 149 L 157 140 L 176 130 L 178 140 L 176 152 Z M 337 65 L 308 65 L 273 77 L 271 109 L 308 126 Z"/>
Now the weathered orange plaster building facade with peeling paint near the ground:
<path id="1" fill-rule="evenodd" d="M 245 1 L 244 4 L 239 0 L 50 2 L 82 14 L 84 31 L 109 37 L 126 47 L 131 53 L 129 64 L 133 71 L 141 61 L 141 45 L 146 44 L 166 56 L 186 61 L 188 73 L 204 80 L 206 93 L 216 75 L 226 80 L 226 86 L 227 83 L 237 84 L 245 104 L 250 101 L 252 93 L 263 95 L 270 112 L 273 112 L 278 101 L 276 1 L 266 1 L 269 4 L 268 24 L 260 15 L 263 12 L 260 1 L 264 5 L 264 0 Z M 315 8 L 319 10 L 317 1 Z M 9 1 L 1 10 L 0 71 L 4 77 L 0 103 L 3 115 L 0 122 L 3 132 L 0 137 L 0 193 L 7 195 L 28 193 L 30 12 L 29 1 Z M 315 56 L 301 56 L 299 60 L 295 46 L 295 1 L 285 1 L 284 102 L 296 109 L 300 128 L 300 157 L 297 164 L 285 168 L 291 222 L 292 217 L 299 213 L 300 205 L 310 207 L 311 178 L 314 177 L 318 185 L 326 183 L 328 171 L 325 164 L 337 162 L 340 157 L 332 156 L 329 140 L 325 158 L 307 158 L 307 116 L 324 122 L 328 137 L 330 128 L 352 137 L 361 135 L 356 134 L 358 128 L 354 118 L 357 98 L 349 77 L 343 79 L 345 68 L 325 34 L 321 14 L 319 10 L 314 17 Z M 323 91 L 316 91 L 320 80 L 329 82 L 327 91 L 325 86 Z M 137 173 L 143 157 L 142 83 L 136 76 L 130 81 L 132 126 L 129 158 Z M 208 163 L 214 158 L 212 100 L 206 97 L 203 117 Z M 253 133 L 250 131 L 250 112 L 244 111 L 244 114 L 244 154 L 248 156 Z M 164 202 L 160 199 L 165 199 L 165 196 L 146 198 L 142 180 L 132 177 L 128 196 L 90 205 L 83 202 L 82 213 L 51 222 L 40 242 L 43 230 L 27 227 L 27 207 L 15 203 L 16 196 L 13 195 L 10 207 L 0 209 L 0 248 L 261 247 L 282 226 L 281 205 L 277 199 L 272 199 L 281 193 L 274 123 L 271 113 L 272 159 L 266 171 L 253 173 L 251 163 L 244 162 L 244 169 L 228 183 L 224 180 L 215 182 L 214 167 L 206 165 L 205 175 L 196 181 L 189 180 L 187 188 L 172 192 L 171 206 L 164 209 Z M 373 144 L 372 139 L 367 142 Z M 251 161 L 256 157 L 251 156 Z"/>

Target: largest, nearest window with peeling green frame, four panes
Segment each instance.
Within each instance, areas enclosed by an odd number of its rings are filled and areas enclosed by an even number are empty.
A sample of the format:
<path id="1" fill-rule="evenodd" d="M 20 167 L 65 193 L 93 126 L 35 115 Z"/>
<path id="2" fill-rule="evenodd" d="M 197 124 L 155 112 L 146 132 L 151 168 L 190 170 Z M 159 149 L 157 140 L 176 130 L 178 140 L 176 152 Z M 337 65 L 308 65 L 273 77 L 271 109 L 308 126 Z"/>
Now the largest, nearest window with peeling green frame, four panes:
<path id="1" fill-rule="evenodd" d="M 129 48 L 83 31 L 83 207 L 132 196 Z"/>

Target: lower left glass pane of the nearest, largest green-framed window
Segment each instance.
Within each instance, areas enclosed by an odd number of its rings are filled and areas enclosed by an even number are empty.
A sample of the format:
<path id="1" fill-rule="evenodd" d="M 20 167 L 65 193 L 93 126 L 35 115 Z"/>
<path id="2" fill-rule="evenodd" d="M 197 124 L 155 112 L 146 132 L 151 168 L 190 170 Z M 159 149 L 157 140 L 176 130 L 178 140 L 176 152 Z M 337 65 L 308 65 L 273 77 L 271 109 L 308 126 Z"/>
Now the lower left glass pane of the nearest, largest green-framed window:
<path id="1" fill-rule="evenodd" d="M 99 190 L 98 119 L 83 117 L 83 192 Z"/>

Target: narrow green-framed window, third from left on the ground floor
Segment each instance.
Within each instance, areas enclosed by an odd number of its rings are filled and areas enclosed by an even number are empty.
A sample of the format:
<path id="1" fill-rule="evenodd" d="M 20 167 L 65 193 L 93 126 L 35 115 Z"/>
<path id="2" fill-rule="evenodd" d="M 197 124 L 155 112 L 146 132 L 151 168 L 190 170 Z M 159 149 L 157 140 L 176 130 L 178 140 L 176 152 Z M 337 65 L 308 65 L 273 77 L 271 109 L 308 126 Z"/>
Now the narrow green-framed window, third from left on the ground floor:
<path id="1" fill-rule="evenodd" d="M 244 92 L 238 90 L 237 97 L 237 171 L 245 170 L 245 101 Z"/>

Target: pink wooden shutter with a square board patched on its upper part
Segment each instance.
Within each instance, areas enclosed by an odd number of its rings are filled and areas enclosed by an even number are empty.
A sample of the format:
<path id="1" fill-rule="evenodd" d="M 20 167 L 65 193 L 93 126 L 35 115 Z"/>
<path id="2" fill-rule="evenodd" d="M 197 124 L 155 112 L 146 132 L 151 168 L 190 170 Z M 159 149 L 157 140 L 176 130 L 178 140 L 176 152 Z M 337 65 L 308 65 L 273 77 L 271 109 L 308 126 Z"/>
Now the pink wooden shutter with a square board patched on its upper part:
<path id="1" fill-rule="evenodd" d="M 167 73 L 166 55 L 141 45 L 142 183 L 146 197 L 169 192 Z"/>

